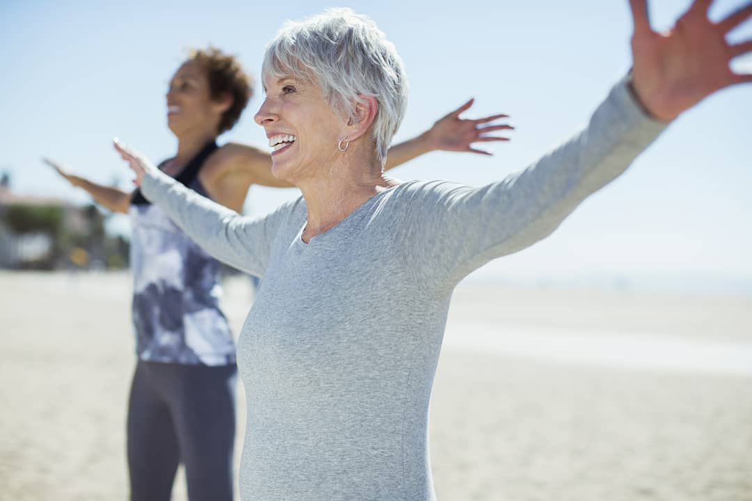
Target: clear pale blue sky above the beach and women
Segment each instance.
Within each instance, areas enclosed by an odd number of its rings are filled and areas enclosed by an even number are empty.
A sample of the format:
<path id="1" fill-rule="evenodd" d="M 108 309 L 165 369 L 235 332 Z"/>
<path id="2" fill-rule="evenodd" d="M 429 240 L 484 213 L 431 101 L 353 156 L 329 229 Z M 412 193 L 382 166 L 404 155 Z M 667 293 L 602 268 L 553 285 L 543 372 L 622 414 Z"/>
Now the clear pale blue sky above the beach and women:
<path id="1" fill-rule="evenodd" d="M 211 3 L 211 5 L 210 5 Z M 717 19 L 742 0 L 718 0 Z M 130 186 L 111 148 L 120 137 L 159 161 L 174 153 L 165 89 L 189 47 L 235 53 L 256 77 L 266 42 L 284 20 L 332 5 L 289 2 L 0 2 L 0 171 L 18 192 L 88 199 L 39 161 L 48 155 L 78 174 Z M 395 44 L 411 83 L 396 140 L 476 98 L 467 116 L 510 113 L 517 126 L 495 156 L 435 152 L 395 171 L 402 179 L 472 185 L 524 168 L 583 125 L 629 68 L 627 0 L 349 2 Z M 666 28 L 689 2 L 650 3 Z M 752 23 L 732 32 L 752 38 Z M 735 67 L 752 72 L 752 57 Z M 265 145 L 253 122 L 220 137 Z M 630 170 L 586 201 L 553 236 L 484 273 L 505 276 L 703 277 L 752 283 L 752 86 L 719 92 L 681 116 Z M 252 188 L 247 213 L 262 214 L 293 190 Z M 127 227 L 115 219 L 112 228 Z"/>

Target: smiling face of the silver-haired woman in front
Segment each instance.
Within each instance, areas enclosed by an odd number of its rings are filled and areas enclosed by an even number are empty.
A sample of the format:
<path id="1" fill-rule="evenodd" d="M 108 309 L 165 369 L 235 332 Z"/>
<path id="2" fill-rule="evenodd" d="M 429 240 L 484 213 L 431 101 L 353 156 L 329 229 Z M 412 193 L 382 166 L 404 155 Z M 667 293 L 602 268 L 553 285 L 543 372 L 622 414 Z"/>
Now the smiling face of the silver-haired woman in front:
<path id="1" fill-rule="evenodd" d="M 317 177 L 341 155 L 338 141 L 347 126 L 315 83 L 294 77 L 266 77 L 266 98 L 254 117 L 269 138 L 271 172 L 295 183 Z"/>

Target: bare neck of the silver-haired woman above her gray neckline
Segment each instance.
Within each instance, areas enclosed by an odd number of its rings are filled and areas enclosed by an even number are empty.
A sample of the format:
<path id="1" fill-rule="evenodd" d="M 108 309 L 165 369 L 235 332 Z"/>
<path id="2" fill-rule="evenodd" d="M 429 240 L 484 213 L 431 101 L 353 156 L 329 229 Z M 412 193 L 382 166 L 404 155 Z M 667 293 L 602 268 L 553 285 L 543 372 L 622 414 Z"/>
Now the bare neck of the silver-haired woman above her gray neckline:
<path id="1" fill-rule="evenodd" d="M 326 171 L 294 182 L 308 207 L 305 242 L 338 225 L 369 198 L 398 184 L 384 176 L 381 162 L 372 154 L 348 153 L 335 157 Z"/>

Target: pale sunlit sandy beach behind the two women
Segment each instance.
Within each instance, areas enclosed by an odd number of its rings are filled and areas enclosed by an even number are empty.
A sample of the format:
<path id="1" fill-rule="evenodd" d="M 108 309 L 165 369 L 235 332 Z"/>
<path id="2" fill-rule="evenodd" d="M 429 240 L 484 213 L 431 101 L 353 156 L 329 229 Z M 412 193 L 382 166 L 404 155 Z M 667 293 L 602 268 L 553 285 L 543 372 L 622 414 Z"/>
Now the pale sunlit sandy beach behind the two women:
<path id="1" fill-rule="evenodd" d="M 127 499 L 130 291 L 0 273 L 0 499 Z M 462 285 L 430 427 L 441 501 L 750 501 L 752 297 Z"/>

